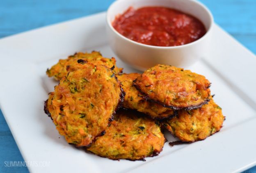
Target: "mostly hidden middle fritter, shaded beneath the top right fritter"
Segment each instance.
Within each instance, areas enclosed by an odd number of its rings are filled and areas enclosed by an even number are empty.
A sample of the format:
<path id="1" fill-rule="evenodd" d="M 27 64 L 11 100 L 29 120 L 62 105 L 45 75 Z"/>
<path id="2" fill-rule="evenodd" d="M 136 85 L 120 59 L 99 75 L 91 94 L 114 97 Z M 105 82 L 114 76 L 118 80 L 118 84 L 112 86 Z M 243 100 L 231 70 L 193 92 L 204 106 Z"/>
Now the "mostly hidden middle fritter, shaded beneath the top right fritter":
<path id="1" fill-rule="evenodd" d="M 155 102 L 146 101 L 142 97 L 139 91 L 133 86 L 133 80 L 139 76 L 139 73 L 117 75 L 117 78 L 122 83 L 122 88 L 126 93 L 123 100 L 123 107 L 127 109 L 135 109 L 151 116 L 151 118 L 161 119 L 174 116 L 173 109 L 163 107 Z"/>

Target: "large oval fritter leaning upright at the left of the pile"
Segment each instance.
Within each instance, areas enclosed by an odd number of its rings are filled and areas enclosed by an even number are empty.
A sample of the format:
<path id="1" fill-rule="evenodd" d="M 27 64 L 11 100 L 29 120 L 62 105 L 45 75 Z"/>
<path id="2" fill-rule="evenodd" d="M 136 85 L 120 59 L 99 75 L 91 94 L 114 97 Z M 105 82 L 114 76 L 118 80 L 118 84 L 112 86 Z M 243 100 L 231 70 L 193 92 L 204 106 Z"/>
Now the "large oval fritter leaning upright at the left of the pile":
<path id="1" fill-rule="evenodd" d="M 76 64 L 45 103 L 59 134 L 75 146 L 88 146 L 106 129 L 122 101 L 121 83 L 103 65 Z"/>

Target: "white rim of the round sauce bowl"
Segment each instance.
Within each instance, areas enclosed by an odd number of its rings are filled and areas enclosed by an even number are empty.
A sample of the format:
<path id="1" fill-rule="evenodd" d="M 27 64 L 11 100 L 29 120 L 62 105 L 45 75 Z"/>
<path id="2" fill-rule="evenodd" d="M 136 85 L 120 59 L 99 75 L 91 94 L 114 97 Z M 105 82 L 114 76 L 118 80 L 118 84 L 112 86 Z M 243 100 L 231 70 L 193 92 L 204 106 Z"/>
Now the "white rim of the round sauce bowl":
<path id="1" fill-rule="evenodd" d="M 124 0 L 123 0 L 124 1 Z M 134 43 L 138 46 L 143 46 L 143 47 L 147 47 L 147 48 L 157 48 L 157 49 L 177 49 L 177 48 L 184 48 L 184 47 L 187 47 L 187 46 L 192 46 L 193 44 L 196 44 L 202 40 L 204 40 L 208 35 L 209 33 L 211 32 L 211 30 L 213 30 L 213 23 L 214 23 L 214 19 L 213 19 L 213 14 L 210 12 L 210 10 L 208 9 L 208 7 L 206 7 L 205 5 L 203 5 L 203 3 L 197 1 L 197 0 L 187 0 L 187 1 L 192 1 L 192 2 L 195 2 L 197 5 L 203 7 L 206 12 L 208 13 L 208 15 L 210 16 L 210 27 L 209 29 L 206 31 L 206 34 L 204 34 L 201 38 L 197 39 L 196 41 L 192 41 L 191 43 L 187 43 L 187 44 L 183 44 L 183 45 L 179 45 L 179 46 L 152 46 L 152 45 L 147 45 L 147 44 L 143 44 L 143 43 L 139 43 L 139 42 L 136 42 L 136 41 L 133 41 L 131 39 L 128 39 L 127 37 L 123 36 L 122 34 L 120 34 L 119 32 L 117 32 L 117 30 L 114 29 L 114 27 L 112 26 L 112 23 L 110 21 L 110 18 L 108 17 L 109 14 L 110 14 L 110 9 L 116 5 L 117 3 L 121 3 L 122 0 L 115 0 L 107 9 L 107 14 L 106 14 L 106 20 L 107 20 L 107 26 L 110 27 L 110 29 L 115 33 L 117 34 L 119 37 L 121 37 L 122 39 L 126 40 L 126 41 L 129 41 L 131 43 Z M 164 7 L 164 6 L 162 6 Z M 129 7 L 127 7 L 129 8 Z M 116 14 L 118 15 L 118 14 Z M 199 19 L 200 20 L 200 19 Z M 201 20 L 200 20 L 201 21 Z"/>

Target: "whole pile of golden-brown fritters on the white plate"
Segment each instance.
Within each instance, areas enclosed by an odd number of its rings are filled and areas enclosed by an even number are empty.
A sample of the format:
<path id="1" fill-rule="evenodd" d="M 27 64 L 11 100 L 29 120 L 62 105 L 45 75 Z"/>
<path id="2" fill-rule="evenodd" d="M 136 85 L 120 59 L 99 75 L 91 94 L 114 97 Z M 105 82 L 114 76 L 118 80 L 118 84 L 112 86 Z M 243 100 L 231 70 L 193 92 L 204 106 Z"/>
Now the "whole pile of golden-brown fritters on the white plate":
<path id="1" fill-rule="evenodd" d="M 185 142 L 222 127 L 222 110 L 204 76 L 167 65 L 143 74 L 121 71 L 99 52 L 76 53 L 47 70 L 59 84 L 45 112 L 68 143 L 101 157 L 143 160 L 162 151 L 161 127 Z"/>

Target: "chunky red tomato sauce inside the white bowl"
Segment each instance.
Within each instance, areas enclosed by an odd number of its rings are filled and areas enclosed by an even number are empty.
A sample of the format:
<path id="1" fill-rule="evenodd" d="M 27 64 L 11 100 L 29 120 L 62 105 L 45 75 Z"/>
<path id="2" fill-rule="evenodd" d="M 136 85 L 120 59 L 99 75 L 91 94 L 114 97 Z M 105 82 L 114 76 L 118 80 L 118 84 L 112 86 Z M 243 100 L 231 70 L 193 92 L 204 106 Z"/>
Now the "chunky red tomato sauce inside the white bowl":
<path id="1" fill-rule="evenodd" d="M 152 46 L 184 45 L 206 33 L 199 19 L 167 7 L 130 7 L 112 25 L 128 39 Z"/>

